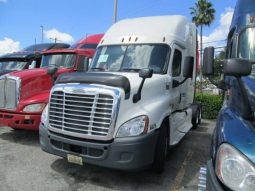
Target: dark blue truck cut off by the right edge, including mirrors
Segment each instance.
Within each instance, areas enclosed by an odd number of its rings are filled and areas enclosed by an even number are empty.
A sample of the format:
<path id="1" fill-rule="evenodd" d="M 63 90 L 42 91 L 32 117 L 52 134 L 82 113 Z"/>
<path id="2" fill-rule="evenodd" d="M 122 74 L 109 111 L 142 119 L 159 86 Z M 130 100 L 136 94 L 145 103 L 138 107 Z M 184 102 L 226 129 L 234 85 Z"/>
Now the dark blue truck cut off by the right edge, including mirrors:
<path id="1" fill-rule="evenodd" d="M 201 169 L 201 190 L 255 190 L 255 2 L 238 0 L 226 59 L 225 91 L 212 137 L 210 160 Z M 204 51 L 204 73 L 213 75 L 213 48 Z"/>

